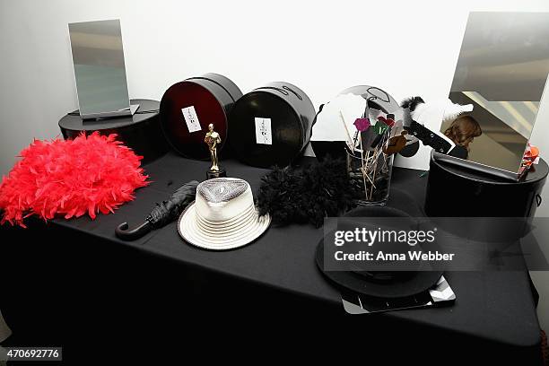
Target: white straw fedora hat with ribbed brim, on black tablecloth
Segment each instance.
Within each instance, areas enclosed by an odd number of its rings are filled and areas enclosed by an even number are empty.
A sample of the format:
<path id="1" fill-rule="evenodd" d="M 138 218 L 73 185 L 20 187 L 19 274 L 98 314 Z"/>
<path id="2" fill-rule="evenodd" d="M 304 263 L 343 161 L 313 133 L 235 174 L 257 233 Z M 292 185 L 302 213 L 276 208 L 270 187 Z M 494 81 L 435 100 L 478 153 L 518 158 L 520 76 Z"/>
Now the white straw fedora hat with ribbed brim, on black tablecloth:
<path id="1" fill-rule="evenodd" d="M 179 235 L 196 247 L 239 248 L 263 234 L 271 217 L 259 216 L 246 180 L 216 178 L 196 187 L 196 199 L 181 213 Z"/>

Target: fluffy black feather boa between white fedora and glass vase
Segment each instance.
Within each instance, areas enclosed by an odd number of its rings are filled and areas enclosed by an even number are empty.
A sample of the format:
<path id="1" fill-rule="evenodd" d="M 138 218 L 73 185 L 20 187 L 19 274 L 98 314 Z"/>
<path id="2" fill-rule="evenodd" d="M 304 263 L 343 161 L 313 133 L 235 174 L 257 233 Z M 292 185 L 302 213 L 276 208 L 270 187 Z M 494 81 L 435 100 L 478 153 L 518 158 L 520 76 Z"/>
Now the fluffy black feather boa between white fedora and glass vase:
<path id="1" fill-rule="evenodd" d="M 309 222 L 322 226 L 327 216 L 353 207 L 353 187 L 344 161 L 327 157 L 305 168 L 274 168 L 262 179 L 257 207 L 275 224 Z"/>

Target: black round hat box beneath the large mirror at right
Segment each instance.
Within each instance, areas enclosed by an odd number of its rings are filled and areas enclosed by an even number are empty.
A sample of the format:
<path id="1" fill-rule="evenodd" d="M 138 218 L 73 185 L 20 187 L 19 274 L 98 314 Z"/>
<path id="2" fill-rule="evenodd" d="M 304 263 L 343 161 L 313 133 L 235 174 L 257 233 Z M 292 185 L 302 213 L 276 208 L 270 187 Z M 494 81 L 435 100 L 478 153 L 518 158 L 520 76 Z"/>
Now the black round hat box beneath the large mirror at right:
<path id="1" fill-rule="evenodd" d="M 432 217 L 532 217 L 549 167 L 540 159 L 519 181 L 437 161 L 431 165 L 425 213 Z"/>

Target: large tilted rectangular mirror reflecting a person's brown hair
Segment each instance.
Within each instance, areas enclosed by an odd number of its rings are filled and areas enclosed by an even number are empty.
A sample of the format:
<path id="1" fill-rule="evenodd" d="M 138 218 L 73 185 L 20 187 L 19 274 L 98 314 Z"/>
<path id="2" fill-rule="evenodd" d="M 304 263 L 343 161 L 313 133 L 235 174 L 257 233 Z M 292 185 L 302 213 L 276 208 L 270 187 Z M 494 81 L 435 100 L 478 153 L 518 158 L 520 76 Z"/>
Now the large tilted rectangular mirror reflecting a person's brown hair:
<path id="1" fill-rule="evenodd" d="M 518 179 L 549 74 L 549 13 L 470 13 L 449 99 L 472 104 L 440 132 L 468 150 L 449 159 Z"/>

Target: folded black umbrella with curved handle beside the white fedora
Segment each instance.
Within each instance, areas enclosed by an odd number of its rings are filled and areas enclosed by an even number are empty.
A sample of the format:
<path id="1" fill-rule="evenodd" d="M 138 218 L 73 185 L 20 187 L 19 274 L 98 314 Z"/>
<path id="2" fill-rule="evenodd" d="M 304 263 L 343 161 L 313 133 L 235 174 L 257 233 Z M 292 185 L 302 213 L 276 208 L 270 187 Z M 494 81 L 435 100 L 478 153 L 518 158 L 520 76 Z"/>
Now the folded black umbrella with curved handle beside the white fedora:
<path id="1" fill-rule="evenodd" d="M 185 210 L 188 204 L 195 200 L 198 181 L 191 180 L 179 187 L 170 199 L 156 204 L 153 211 L 145 218 L 145 221 L 133 230 L 128 230 L 127 222 L 118 225 L 115 233 L 121 240 L 136 240 L 147 232 L 156 230 L 174 221 Z"/>

